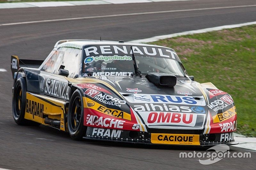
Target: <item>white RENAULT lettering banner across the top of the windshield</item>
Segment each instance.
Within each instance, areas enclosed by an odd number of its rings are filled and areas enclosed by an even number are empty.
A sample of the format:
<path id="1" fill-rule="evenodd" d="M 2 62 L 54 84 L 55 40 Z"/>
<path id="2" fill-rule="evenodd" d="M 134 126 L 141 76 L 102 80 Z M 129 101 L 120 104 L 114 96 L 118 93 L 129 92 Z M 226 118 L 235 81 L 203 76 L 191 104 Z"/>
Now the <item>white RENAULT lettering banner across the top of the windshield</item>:
<path id="1" fill-rule="evenodd" d="M 154 56 L 154 57 L 166 57 L 171 59 L 176 59 L 177 54 L 170 48 L 157 48 L 157 47 L 143 47 L 143 46 L 132 46 L 132 50 L 130 46 L 90 46 L 84 48 L 85 55 L 106 55 L 106 54 L 116 54 L 118 55 L 131 55 L 132 51 L 134 54 L 140 54 L 141 56 Z M 114 55 L 115 56 L 115 55 Z M 103 56 L 102 56 L 103 57 Z M 108 59 L 107 57 L 113 56 L 104 56 L 101 60 L 113 60 Z M 176 57 L 176 58 L 175 58 Z M 131 57 L 132 58 L 132 57 Z M 92 59 L 91 59 L 92 60 Z M 88 62 L 88 61 L 87 61 Z"/>

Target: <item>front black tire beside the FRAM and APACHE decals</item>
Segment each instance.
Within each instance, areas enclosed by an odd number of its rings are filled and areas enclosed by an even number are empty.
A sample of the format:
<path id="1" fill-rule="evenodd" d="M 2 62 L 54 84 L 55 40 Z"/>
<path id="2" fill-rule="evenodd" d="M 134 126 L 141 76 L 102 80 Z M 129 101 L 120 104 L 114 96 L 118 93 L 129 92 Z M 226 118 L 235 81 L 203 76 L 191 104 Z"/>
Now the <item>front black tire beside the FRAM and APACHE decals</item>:
<path id="1" fill-rule="evenodd" d="M 76 90 L 71 96 L 68 106 L 68 133 L 72 139 L 81 140 L 85 136 L 84 104 L 80 90 Z"/>

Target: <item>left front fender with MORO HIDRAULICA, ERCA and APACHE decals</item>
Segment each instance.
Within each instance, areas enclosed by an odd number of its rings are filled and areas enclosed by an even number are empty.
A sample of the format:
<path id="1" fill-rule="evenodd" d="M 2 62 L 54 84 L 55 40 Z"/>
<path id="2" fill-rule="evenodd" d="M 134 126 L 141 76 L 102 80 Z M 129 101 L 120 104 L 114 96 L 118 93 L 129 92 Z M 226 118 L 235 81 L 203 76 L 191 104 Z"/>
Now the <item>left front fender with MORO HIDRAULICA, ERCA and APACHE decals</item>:
<path id="1" fill-rule="evenodd" d="M 84 126 L 147 131 L 136 112 L 108 86 L 97 83 L 77 83 L 72 86 L 84 94 Z"/>

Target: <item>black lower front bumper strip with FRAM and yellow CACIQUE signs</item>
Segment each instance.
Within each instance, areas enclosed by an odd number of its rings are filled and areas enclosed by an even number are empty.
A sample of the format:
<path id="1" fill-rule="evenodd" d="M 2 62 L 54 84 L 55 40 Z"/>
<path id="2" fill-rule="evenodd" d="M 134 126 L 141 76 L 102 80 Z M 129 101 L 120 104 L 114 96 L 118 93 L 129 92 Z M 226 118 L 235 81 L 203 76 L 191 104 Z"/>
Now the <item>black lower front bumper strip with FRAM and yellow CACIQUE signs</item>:
<path id="1" fill-rule="evenodd" d="M 87 127 L 85 139 L 167 145 L 235 145 L 233 132 L 217 134 L 166 134 Z M 189 141 L 190 140 L 190 141 Z"/>

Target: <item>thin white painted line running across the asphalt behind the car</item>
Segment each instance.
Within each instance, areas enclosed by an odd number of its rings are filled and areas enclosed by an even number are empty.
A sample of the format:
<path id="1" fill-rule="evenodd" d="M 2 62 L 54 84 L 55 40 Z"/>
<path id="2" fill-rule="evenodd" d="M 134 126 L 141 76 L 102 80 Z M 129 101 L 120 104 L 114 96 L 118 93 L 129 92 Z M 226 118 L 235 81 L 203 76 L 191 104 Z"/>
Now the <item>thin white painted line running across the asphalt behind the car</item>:
<path id="1" fill-rule="evenodd" d="M 197 9 L 187 9 L 187 10 L 171 10 L 171 11 L 155 11 L 155 12 L 140 12 L 140 13 L 115 14 L 115 15 L 101 15 L 101 16 L 91 16 L 91 17 L 78 17 L 78 18 L 49 19 L 49 20 L 39 20 L 39 21 L 6 23 L 6 24 L 0 24 L 0 26 L 11 26 L 11 25 L 19 25 L 19 24 L 32 24 L 32 23 L 42 23 L 42 22 L 54 22 L 54 21 L 67 21 L 67 20 L 77 20 L 77 19 L 90 19 L 90 18 L 107 18 L 107 17 L 120 17 L 120 16 L 131 16 L 131 15 L 158 14 L 158 13 L 169 13 L 169 12 L 216 10 L 216 9 L 227 9 L 227 8 L 243 8 L 243 7 L 253 7 L 253 6 L 256 6 L 256 4 L 255 5 L 214 7 L 214 8 L 197 8 Z"/>

